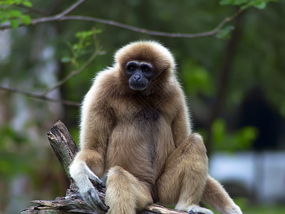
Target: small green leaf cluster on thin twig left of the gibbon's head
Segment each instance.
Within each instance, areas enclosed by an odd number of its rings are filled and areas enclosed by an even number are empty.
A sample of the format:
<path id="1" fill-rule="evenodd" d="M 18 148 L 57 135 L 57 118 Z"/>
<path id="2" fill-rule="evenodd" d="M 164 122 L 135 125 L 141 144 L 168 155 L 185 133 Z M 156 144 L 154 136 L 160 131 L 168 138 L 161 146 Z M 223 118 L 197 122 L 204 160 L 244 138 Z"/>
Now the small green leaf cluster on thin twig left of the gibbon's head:
<path id="1" fill-rule="evenodd" d="M 72 63 L 74 67 L 78 67 L 78 58 L 94 53 L 100 48 L 97 34 L 100 34 L 101 32 L 101 29 L 95 28 L 91 29 L 90 31 L 76 32 L 74 35 L 76 41 L 73 44 L 71 44 L 69 41 L 67 43 L 68 48 L 71 51 L 71 56 L 63 56 L 61 58 L 61 62 Z"/>

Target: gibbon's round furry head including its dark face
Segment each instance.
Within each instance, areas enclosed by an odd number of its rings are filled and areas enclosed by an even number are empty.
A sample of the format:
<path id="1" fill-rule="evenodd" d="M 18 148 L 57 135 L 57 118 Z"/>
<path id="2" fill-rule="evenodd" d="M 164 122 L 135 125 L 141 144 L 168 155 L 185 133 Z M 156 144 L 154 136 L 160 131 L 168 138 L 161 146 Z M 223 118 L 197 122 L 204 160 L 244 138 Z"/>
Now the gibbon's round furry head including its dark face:
<path id="1" fill-rule="evenodd" d="M 138 41 L 119 49 L 115 54 L 120 74 L 135 91 L 143 91 L 150 81 L 171 73 L 175 61 L 168 49 L 155 41 Z"/>

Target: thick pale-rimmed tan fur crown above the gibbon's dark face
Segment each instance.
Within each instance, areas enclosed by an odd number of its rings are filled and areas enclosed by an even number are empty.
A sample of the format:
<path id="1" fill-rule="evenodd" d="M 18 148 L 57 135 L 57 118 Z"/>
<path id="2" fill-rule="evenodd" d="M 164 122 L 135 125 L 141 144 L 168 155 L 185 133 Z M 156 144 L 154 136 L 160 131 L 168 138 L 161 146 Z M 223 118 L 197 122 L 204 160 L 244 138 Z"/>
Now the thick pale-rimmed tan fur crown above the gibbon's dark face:
<path id="1" fill-rule="evenodd" d="M 150 63 L 157 73 L 169 68 L 175 71 L 175 60 L 170 51 L 156 41 L 138 41 L 123 46 L 115 53 L 115 63 L 124 69 L 130 61 Z"/>

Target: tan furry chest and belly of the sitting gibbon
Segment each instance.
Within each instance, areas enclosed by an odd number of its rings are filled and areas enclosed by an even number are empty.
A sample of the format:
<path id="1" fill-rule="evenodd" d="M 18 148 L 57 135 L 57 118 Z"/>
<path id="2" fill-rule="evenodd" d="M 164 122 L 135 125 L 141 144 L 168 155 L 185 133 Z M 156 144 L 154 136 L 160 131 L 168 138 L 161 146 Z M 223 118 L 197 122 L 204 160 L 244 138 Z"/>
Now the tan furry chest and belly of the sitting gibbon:
<path id="1" fill-rule="evenodd" d="M 167 113 L 159 105 L 146 104 L 132 102 L 118 107 L 105 161 L 106 169 L 120 165 L 153 184 L 175 146 Z"/>

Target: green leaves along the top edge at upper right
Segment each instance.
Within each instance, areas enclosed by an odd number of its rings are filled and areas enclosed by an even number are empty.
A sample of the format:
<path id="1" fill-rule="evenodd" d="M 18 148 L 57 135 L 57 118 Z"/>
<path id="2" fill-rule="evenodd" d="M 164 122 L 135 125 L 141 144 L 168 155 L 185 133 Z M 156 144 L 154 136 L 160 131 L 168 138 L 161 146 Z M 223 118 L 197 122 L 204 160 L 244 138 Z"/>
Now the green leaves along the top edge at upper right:
<path id="1" fill-rule="evenodd" d="M 239 6 L 241 10 L 248 9 L 252 6 L 256 7 L 257 9 L 265 9 L 266 5 L 270 1 L 277 0 L 221 0 L 219 1 L 219 4 Z"/>

